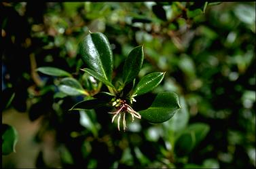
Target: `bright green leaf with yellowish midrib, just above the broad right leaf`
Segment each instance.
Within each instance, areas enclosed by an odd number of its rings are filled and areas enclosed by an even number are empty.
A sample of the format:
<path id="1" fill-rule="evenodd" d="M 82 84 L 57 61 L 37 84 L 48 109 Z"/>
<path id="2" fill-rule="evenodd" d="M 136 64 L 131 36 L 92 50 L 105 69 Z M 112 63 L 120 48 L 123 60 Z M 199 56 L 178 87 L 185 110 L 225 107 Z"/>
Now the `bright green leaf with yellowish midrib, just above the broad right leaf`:
<path id="1" fill-rule="evenodd" d="M 162 79 L 164 79 L 164 74 L 163 72 L 154 72 L 145 75 L 134 88 L 133 95 L 145 94 L 153 90 L 153 88 L 156 88 L 156 86 L 161 83 Z"/>

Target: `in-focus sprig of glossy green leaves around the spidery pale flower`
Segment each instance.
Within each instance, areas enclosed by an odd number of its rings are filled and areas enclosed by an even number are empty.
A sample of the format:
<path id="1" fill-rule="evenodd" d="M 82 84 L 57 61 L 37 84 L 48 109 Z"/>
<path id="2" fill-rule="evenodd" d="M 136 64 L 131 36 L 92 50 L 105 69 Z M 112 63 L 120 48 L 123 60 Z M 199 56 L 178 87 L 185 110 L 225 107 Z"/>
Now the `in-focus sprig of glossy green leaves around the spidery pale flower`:
<path id="1" fill-rule="evenodd" d="M 86 73 L 89 73 L 99 81 L 103 82 L 105 85 L 110 86 L 111 88 L 115 88 L 111 84 L 111 72 L 113 69 L 113 56 L 111 49 L 109 47 L 109 41 L 107 40 L 107 37 L 103 35 L 102 33 L 90 33 L 89 35 L 86 35 L 84 40 L 81 43 L 81 48 L 79 49 L 81 52 L 81 58 L 88 64 L 88 67 L 91 69 L 81 69 L 82 71 L 85 71 Z M 85 52 L 84 52 L 85 51 Z M 103 55 L 104 54 L 104 55 Z M 138 46 L 134 48 L 126 58 L 124 62 L 123 72 L 122 72 L 122 80 L 124 82 L 124 85 L 130 83 L 131 81 L 134 81 L 136 76 L 139 74 L 139 71 L 141 70 L 141 67 L 143 65 L 143 46 Z M 107 62 L 107 64 L 106 64 Z M 103 66 L 104 65 L 104 66 Z M 109 71 L 109 68 L 111 68 L 111 71 Z M 97 71 L 97 72 L 96 72 Z M 108 72 L 106 74 L 106 72 Z M 164 73 L 150 73 L 149 75 L 146 75 L 139 81 L 139 83 L 134 88 L 134 93 L 132 96 L 130 96 L 130 102 L 134 100 L 134 96 L 145 94 L 147 92 L 150 92 L 153 90 L 153 88 L 156 88 L 164 78 Z M 63 80 L 62 80 L 63 81 Z M 71 85 L 70 85 L 71 86 Z M 134 86 L 134 83 L 132 82 L 132 87 Z M 61 86 L 60 86 L 61 87 Z M 74 85 L 72 85 L 73 88 L 75 88 Z M 60 88 L 62 89 L 62 88 Z M 121 88 L 121 91 L 114 91 L 112 89 L 109 89 L 109 92 L 112 92 L 115 96 L 119 96 L 116 98 L 112 98 L 113 107 L 116 107 L 119 109 L 116 111 L 117 113 L 114 113 L 113 119 L 115 119 L 116 115 L 119 115 L 119 113 L 126 113 L 123 109 L 123 107 L 126 107 L 126 99 L 129 96 L 126 96 L 129 92 L 124 92 Z M 126 90 L 128 87 L 126 87 Z M 129 88 L 132 90 L 132 88 Z M 70 90 L 70 89 L 69 89 Z M 71 95 L 69 91 L 61 90 L 62 92 L 66 92 L 66 94 Z M 77 88 L 77 91 L 78 90 Z M 124 96 L 121 96 L 124 95 Z M 74 94 L 74 96 L 76 93 Z M 106 93 L 105 93 L 106 96 Z M 120 97 L 121 96 L 121 97 Z M 101 97 L 102 98 L 102 97 Z M 92 100 L 84 100 L 81 102 L 78 102 L 76 105 L 74 105 L 70 110 L 86 110 L 86 109 L 94 109 L 97 107 L 104 106 L 107 102 L 110 100 L 103 100 L 103 98 L 100 99 L 92 99 Z M 124 102 L 124 103 L 123 103 Z M 129 106 L 128 106 L 129 107 Z M 139 111 L 141 113 L 142 117 L 144 119 L 147 119 L 149 122 L 153 123 L 162 123 L 164 121 L 167 121 L 170 119 L 177 109 L 180 109 L 179 106 L 179 98 L 177 94 L 171 93 L 171 92 L 165 92 L 160 93 L 158 96 L 156 96 L 156 99 L 153 101 L 151 107 L 149 107 L 147 110 Z M 127 109 L 127 108 L 125 108 Z M 133 110 L 132 108 L 128 108 L 127 112 L 131 113 Z M 136 113 L 132 114 L 132 120 L 133 115 L 136 117 Z M 139 117 L 139 116 L 138 116 Z M 120 122 L 121 114 L 118 117 L 118 129 L 119 122 Z M 112 119 L 112 122 L 113 122 Z M 125 116 L 123 117 L 123 125 L 125 130 Z"/>

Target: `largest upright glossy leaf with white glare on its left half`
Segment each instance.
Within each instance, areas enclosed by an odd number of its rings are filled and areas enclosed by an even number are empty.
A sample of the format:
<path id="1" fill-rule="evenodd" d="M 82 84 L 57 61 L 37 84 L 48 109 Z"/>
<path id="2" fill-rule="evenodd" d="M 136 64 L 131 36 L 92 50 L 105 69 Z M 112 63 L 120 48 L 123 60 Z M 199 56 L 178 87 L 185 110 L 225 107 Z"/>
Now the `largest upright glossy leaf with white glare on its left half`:
<path id="1" fill-rule="evenodd" d="M 79 44 L 81 59 L 90 69 L 107 81 L 113 72 L 113 54 L 109 41 L 103 33 L 89 33 Z"/>

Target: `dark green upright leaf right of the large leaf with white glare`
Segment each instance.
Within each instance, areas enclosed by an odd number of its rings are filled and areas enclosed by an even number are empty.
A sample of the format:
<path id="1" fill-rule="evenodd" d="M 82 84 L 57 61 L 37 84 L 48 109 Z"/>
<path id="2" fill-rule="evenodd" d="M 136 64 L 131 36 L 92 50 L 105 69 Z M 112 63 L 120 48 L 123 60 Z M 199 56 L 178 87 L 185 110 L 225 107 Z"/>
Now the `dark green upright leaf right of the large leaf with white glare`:
<path id="1" fill-rule="evenodd" d="M 143 64 L 143 46 L 134 48 L 124 62 L 123 81 L 124 85 L 137 77 Z"/>

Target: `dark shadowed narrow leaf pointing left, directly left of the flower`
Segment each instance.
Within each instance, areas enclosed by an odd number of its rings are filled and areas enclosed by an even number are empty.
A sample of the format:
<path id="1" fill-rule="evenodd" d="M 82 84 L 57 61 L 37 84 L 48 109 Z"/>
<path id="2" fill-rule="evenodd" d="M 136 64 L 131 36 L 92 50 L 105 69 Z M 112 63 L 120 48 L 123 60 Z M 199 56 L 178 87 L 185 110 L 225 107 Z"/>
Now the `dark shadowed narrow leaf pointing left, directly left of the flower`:
<path id="1" fill-rule="evenodd" d="M 105 105 L 107 101 L 99 100 L 99 99 L 92 99 L 92 100 L 83 100 L 75 104 L 69 111 L 81 111 L 85 109 L 95 109 L 97 107 L 102 107 Z"/>

